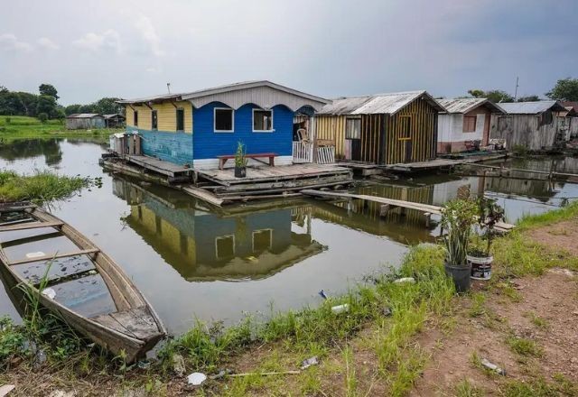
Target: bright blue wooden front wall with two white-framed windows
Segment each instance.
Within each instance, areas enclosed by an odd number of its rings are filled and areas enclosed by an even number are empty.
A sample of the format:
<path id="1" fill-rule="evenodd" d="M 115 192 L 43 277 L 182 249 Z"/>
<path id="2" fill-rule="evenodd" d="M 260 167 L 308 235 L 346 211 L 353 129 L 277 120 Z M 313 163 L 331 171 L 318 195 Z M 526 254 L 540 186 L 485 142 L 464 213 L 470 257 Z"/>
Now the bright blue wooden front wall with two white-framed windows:
<path id="1" fill-rule="evenodd" d="M 213 117 L 215 107 L 228 107 L 220 102 L 211 102 L 193 110 L 193 150 L 195 160 L 214 159 L 219 155 L 235 154 L 237 143 L 247 146 L 247 152 L 275 152 L 290 156 L 293 152 L 294 112 L 286 106 L 273 107 L 273 129 L 271 133 L 253 132 L 253 104 L 239 107 L 235 111 L 233 133 L 215 133 Z"/>

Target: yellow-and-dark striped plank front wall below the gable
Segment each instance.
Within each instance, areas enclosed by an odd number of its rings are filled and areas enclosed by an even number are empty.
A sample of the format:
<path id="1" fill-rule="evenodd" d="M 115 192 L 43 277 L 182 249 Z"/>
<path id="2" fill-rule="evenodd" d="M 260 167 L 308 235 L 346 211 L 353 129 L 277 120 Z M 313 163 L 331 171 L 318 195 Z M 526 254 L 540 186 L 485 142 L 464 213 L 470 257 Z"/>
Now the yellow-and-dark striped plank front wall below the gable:
<path id="1" fill-rule="evenodd" d="M 385 136 L 385 164 L 406 160 L 407 141 L 402 140 L 401 116 L 411 117 L 411 162 L 425 162 L 435 158 L 437 146 L 437 111 L 427 101 L 419 98 L 404 107 L 396 115 L 387 116 Z M 363 136 L 363 135 L 362 135 Z"/>

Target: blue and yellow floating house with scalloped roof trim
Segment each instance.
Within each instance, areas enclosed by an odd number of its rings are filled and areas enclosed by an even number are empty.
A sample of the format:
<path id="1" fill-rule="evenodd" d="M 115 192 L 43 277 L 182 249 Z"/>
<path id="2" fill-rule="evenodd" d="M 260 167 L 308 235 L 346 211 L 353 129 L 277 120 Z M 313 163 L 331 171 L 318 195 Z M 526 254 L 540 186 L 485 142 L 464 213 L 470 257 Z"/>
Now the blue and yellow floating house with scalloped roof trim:
<path id="1" fill-rule="evenodd" d="M 126 131 L 141 135 L 144 155 L 200 170 L 219 168 L 218 157 L 235 154 L 238 142 L 247 153 L 275 154 L 275 165 L 291 164 L 295 116 L 311 117 L 329 101 L 250 81 L 118 103 L 126 106 Z"/>

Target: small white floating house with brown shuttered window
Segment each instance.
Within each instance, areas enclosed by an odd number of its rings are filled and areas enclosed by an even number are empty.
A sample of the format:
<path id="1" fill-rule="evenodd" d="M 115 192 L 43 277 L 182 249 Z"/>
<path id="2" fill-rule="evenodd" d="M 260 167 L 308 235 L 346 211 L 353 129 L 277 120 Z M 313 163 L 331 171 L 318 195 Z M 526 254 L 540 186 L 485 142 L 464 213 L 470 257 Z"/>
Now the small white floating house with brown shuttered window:
<path id="1" fill-rule="evenodd" d="M 464 152 L 487 146 L 491 115 L 501 107 L 486 98 L 438 99 L 447 113 L 438 115 L 437 152 Z"/>

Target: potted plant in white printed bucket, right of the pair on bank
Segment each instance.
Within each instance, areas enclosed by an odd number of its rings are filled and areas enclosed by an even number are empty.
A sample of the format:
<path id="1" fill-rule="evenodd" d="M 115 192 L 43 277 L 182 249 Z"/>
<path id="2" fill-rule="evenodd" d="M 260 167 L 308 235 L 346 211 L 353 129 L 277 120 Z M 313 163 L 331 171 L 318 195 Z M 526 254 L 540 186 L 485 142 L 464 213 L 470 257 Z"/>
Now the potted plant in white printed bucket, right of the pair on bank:
<path id="1" fill-rule="evenodd" d="M 494 257 L 489 253 L 494 239 L 494 226 L 504 218 L 504 209 L 494 199 L 481 198 L 478 200 L 478 226 L 483 245 L 473 245 L 468 250 L 468 262 L 471 264 L 471 278 L 474 280 L 489 280 L 491 277 L 491 263 Z"/>

